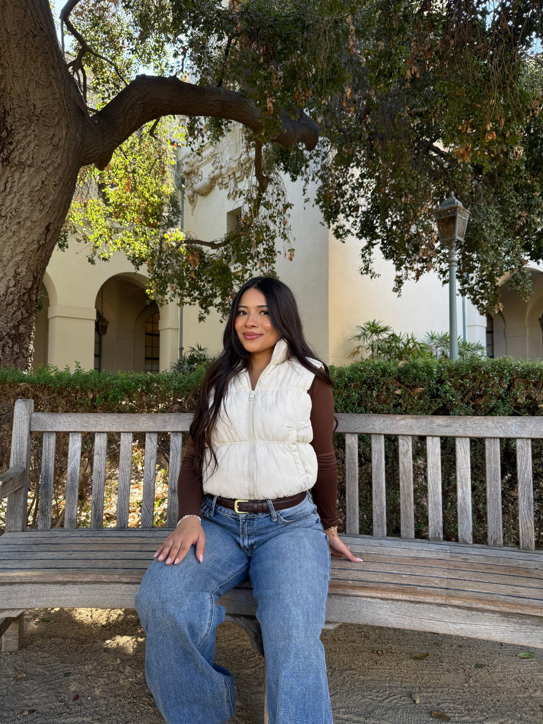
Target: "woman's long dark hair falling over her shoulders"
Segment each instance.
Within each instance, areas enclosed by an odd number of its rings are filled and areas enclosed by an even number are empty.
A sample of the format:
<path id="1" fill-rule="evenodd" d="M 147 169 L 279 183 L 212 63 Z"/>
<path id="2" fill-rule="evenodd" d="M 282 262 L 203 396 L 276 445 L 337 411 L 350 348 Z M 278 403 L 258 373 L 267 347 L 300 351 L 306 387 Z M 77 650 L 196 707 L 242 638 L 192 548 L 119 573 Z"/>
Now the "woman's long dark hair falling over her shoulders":
<path id="1" fill-rule="evenodd" d="M 230 314 L 222 335 L 222 353 L 206 372 L 200 397 L 198 397 L 198 403 L 196 404 L 193 422 L 190 425 L 190 437 L 193 439 L 196 450 L 194 469 L 198 475 L 201 475 L 203 471 L 206 447 L 211 450 L 212 458 L 216 464 L 215 453 L 211 445 L 211 434 L 219 417 L 228 383 L 236 374 L 247 369 L 248 362 L 251 359 L 251 353 L 245 350 L 235 330 L 237 307 L 248 289 L 258 289 L 266 297 L 271 324 L 273 324 L 279 337 L 285 340 L 289 346 L 288 358 L 295 357 L 303 367 L 332 386 L 328 368 L 324 362 L 321 362 L 322 367 L 316 367 L 310 361 L 310 358 L 319 358 L 303 334 L 298 305 L 290 287 L 287 287 L 283 282 L 279 282 L 279 279 L 271 277 L 249 279 L 232 300 Z M 211 395 L 213 401 L 210 405 Z"/>

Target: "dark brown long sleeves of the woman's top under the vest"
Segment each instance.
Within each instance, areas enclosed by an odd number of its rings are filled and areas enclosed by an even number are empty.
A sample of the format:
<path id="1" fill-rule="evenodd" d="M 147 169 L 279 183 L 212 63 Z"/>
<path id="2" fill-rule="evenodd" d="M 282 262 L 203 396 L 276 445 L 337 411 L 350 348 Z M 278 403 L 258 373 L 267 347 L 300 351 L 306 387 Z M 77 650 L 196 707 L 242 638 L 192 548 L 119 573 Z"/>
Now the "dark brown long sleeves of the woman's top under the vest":
<path id="1" fill-rule="evenodd" d="M 334 395 L 332 387 L 319 377 L 313 379 L 308 390 L 311 397 L 311 427 L 318 472 L 311 494 L 324 528 L 337 525 L 337 461 L 332 447 L 334 430 Z M 195 474 L 195 447 L 189 437 L 187 450 L 181 463 L 177 481 L 177 500 L 179 501 L 178 520 L 183 515 L 198 515 L 203 497 L 201 476 Z"/>

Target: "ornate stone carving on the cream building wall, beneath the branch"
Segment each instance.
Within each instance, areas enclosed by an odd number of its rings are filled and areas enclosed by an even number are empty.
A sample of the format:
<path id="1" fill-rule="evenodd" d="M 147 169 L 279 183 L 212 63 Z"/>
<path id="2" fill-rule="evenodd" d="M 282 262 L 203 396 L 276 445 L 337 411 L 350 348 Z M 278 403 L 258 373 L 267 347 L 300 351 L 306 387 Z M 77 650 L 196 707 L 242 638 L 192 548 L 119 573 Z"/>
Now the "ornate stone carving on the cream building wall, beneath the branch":
<path id="1" fill-rule="evenodd" d="M 210 164 L 211 171 L 204 175 Z M 243 127 L 236 124 L 208 153 L 185 153 L 177 163 L 177 173 L 185 179 L 185 195 L 194 211 L 198 196 L 207 196 L 216 186 L 228 189 L 228 198 L 235 200 L 252 167 L 253 153 L 246 147 Z"/>

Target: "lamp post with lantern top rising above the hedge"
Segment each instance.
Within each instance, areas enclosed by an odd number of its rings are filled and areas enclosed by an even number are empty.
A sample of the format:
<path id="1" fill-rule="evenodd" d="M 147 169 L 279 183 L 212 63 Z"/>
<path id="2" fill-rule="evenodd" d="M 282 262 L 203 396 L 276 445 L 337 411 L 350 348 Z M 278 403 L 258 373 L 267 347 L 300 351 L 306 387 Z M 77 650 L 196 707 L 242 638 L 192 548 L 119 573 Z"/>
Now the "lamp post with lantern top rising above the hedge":
<path id="1" fill-rule="evenodd" d="M 456 324 L 456 242 L 463 241 L 469 211 L 452 193 L 434 214 L 439 241 L 449 245 L 449 357 L 458 360 L 458 331 Z"/>

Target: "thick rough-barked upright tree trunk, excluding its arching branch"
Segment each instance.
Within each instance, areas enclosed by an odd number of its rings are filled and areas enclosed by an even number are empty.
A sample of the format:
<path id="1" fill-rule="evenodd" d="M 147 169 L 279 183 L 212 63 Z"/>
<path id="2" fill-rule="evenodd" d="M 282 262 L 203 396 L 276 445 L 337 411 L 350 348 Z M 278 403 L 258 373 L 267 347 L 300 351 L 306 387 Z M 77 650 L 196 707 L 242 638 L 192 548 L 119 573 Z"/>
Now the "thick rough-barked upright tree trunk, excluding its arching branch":
<path id="1" fill-rule="evenodd" d="M 88 116 L 47 0 L 0 0 L 0 15 L 0 366 L 28 369 Z"/>

